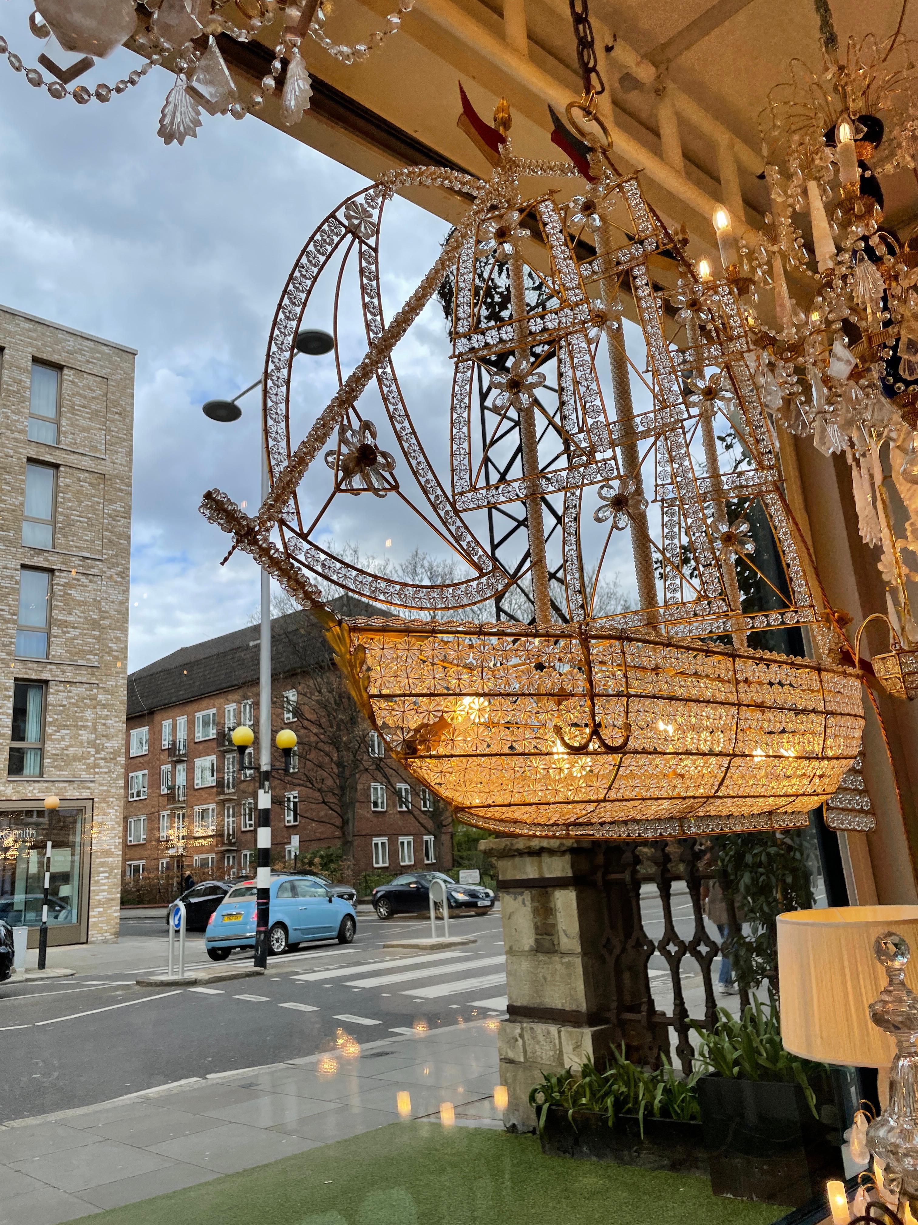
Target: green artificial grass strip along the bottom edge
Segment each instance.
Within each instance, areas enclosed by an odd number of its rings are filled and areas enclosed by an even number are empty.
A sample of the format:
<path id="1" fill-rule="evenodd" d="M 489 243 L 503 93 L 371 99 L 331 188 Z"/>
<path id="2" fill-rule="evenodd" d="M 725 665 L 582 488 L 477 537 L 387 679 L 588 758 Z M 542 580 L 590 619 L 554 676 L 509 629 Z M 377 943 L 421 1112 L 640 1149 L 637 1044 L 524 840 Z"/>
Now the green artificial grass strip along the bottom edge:
<path id="1" fill-rule="evenodd" d="M 93 1215 L 94 1225 L 769 1225 L 706 1178 L 543 1156 L 534 1136 L 393 1123 Z"/>

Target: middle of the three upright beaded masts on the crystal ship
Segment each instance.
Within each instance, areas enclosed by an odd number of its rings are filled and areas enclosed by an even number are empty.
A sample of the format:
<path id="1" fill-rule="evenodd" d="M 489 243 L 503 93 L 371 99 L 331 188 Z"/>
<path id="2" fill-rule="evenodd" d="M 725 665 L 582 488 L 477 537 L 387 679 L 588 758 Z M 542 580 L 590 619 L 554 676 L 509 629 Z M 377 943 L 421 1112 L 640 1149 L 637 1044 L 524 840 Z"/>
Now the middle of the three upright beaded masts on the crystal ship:
<path id="1" fill-rule="evenodd" d="M 610 239 L 608 221 L 602 217 L 596 235 L 599 255 L 606 255 L 613 249 Z M 634 572 L 638 582 L 638 600 L 643 609 L 655 609 L 660 601 L 654 577 L 654 550 L 650 544 L 647 512 L 641 508 L 644 500 L 644 479 L 640 470 L 640 454 L 634 439 L 634 402 L 632 399 L 632 377 L 628 371 L 628 354 L 624 347 L 624 326 L 616 317 L 614 301 L 617 287 L 611 277 L 603 277 L 601 283 L 602 307 L 606 311 L 606 347 L 612 374 L 612 398 L 616 405 L 616 420 L 621 421 L 628 435 L 622 443 L 622 466 L 634 480 L 634 510 L 628 513 L 628 528 L 632 537 Z M 649 616 L 647 620 L 652 620 Z"/>

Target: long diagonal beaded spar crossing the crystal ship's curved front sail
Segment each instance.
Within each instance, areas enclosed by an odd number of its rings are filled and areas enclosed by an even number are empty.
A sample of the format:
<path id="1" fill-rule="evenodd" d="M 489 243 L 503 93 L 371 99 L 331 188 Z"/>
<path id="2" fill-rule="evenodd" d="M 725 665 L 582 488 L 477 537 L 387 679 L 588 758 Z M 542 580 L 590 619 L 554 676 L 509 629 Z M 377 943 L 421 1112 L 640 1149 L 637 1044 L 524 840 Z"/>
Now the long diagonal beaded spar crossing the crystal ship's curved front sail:
<path id="1" fill-rule="evenodd" d="M 465 218 L 455 227 L 449 240 L 443 246 L 439 258 L 432 266 L 427 276 L 408 299 L 401 310 L 394 316 L 389 326 L 373 342 L 364 355 L 362 360 L 354 368 L 335 394 L 322 410 L 306 437 L 297 446 L 290 463 L 280 473 L 273 473 L 271 496 L 264 500 L 258 512 L 258 523 L 262 529 L 277 523 L 284 512 L 284 507 L 296 491 L 302 474 L 318 452 L 332 437 L 333 431 L 340 423 L 348 409 L 354 405 L 366 391 L 370 381 L 376 376 L 376 371 L 389 356 L 398 342 L 417 318 L 424 307 L 436 294 L 443 283 L 447 272 L 455 263 L 457 255 L 466 241 L 470 233 L 474 233 L 479 222 L 491 207 L 494 196 L 499 195 L 503 183 L 499 178 L 493 184 L 485 187 L 479 198 L 471 206 Z"/>

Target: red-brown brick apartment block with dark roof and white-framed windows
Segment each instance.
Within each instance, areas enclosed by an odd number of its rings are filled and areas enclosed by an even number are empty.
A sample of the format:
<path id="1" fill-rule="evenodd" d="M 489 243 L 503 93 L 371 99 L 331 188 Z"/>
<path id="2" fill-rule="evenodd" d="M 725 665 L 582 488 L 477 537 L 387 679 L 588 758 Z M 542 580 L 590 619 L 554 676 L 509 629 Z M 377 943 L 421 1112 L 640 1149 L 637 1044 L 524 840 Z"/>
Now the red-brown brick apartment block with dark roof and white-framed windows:
<path id="1" fill-rule="evenodd" d="M 258 643 L 250 626 L 127 677 L 125 877 L 255 872 Z M 256 735 L 241 767 L 237 724 Z M 289 772 L 274 745 L 282 728 L 299 740 Z M 302 611 L 274 617 L 273 862 L 299 865 L 317 848 L 346 845 L 345 810 L 353 856 L 344 870 L 355 883 L 365 871 L 452 865 L 448 807 L 386 752 L 344 691 L 317 622 Z"/>

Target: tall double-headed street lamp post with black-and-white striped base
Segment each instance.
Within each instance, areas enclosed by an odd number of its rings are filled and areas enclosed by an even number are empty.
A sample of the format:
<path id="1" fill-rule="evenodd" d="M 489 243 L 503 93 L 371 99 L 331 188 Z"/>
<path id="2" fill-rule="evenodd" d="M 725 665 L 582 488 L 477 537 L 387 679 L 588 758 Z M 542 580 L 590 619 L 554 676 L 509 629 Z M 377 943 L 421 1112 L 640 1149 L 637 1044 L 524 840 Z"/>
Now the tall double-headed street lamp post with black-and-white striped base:
<path id="1" fill-rule="evenodd" d="M 296 333 L 296 353 L 317 356 L 330 353 L 334 341 L 327 332 L 305 328 Z M 212 421 L 237 421 L 242 409 L 236 401 L 261 387 L 262 380 L 246 387 L 233 399 L 208 399 L 203 405 L 204 417 Z M 268 439 L 262 413 L 262 502 L 271 492 L 268 474 Z M 262 969 L 268 964 L 268 927 L 271 925 L 271 576 L 262 567 L 261 626 L 258 649 L 258 827 L 256 832 L 256 925 L 255 964 Z"/>

